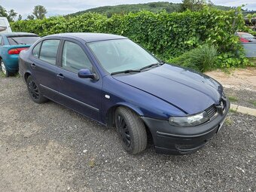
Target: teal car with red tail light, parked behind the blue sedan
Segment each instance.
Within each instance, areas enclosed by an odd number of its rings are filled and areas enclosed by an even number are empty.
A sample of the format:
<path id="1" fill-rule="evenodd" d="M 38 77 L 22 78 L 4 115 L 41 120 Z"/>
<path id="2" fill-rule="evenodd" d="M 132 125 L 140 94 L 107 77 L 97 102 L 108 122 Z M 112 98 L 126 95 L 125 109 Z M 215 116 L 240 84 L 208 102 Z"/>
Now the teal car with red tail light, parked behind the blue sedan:
<path id="1" fill-rule="evenodd" d="M 35 43 L 40 37 L 33 33 L 9 32 L 0 34 L 0 71 L 5 77 L 19 70 L 19 53 Z"/>

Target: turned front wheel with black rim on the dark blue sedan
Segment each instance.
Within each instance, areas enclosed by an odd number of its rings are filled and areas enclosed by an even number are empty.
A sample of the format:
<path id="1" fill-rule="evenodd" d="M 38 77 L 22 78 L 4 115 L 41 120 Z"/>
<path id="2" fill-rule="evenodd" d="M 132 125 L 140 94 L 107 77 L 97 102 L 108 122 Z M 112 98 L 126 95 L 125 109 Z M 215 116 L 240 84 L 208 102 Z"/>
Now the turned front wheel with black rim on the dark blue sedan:
<path id="1" fill-rule="evenodd" d="M 115 112 L 115 125 L 125 151 L 139 154 L 147 147 L 147 132 L 143 121 L 128 108 L 119 107 Z"/>

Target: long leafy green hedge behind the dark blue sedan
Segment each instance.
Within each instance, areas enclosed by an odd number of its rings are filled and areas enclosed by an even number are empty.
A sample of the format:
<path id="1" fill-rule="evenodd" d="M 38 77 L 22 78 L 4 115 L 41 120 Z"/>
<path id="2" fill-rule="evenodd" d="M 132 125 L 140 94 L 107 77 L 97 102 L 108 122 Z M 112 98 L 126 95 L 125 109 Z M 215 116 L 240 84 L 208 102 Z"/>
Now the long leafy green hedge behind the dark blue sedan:
<path id="1" fill-rule="evenodd" d="M 16 32 L 34 32 L 50 35 L 60 32 L 105 32 L 126 36 L 141 44 L 161 59 L 170 59 L 198 47 L 213 44 L 221 54 L 219 66 L 245 65 L 246 59 L 236 29 L 244 29 L 242 14 L 236 10 L 220 11 L 203 8 L 202 11 L 154 14 L 148 11 L 113 15 L 87 13 L 77 17 L 50 17 L 44 20 L 20 20 L 11 23 Z M 231 61 L 228 61 L 231 59 Z M 230 62 L 229 64 L 226 62 Z"/>

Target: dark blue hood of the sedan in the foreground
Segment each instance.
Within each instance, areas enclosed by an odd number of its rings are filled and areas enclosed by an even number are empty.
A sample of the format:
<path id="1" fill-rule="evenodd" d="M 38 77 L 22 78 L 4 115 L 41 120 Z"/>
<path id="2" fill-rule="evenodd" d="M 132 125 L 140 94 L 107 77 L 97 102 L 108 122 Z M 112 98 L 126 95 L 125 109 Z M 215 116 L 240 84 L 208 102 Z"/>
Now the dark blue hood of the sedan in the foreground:
<path id="1" fill-rule="evenodd" d="M 187 114 L 218 105 L 223 89 L 207 75 L 169 64 L 133 75 L 114 75 L 113 78 L 163 99 Z"/>

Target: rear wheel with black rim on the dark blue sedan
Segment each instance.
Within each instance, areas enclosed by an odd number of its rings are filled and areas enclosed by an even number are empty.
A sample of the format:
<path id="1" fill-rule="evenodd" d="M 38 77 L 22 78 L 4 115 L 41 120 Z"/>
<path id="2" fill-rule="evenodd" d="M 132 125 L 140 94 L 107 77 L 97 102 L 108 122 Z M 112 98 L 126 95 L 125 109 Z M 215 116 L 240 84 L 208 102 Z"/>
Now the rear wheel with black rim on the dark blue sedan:
<path id="1" fill-rule="evenodd" d="M 40 87 L 31 75 L 26 79 L 26 86 L 28 87 L 29 96 L 34 102 L 38 104 L 47 102 L 48 99 L 41 94 Z"/>

